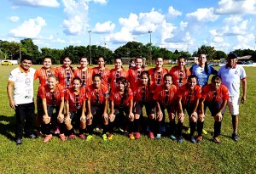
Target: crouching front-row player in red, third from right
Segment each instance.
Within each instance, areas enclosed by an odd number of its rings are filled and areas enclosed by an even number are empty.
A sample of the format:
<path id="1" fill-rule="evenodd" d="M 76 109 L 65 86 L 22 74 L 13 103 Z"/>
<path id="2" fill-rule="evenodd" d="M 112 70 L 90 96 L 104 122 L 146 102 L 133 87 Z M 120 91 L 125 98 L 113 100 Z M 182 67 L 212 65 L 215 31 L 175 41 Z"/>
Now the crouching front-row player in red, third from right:
<path id="1" fill-rule="evenodd" d="M 171 138 L 176 139 L 174 137 L 175 130 L 175 108 L 177 102 L 177 87 L 172 84 L 172 75 L 166 74 L 164 76 L 164 84 L 156 87 L 154 90 L 154 100 L 156 102 L 156 120 L 158 121 L 158 125 L 156 127 L 156 138 L 161 138 L 160 126 L 161 121 L 165 115 L 165 109 L 167 109 L 169 120 L 170 120 L 170 133 Z"/>

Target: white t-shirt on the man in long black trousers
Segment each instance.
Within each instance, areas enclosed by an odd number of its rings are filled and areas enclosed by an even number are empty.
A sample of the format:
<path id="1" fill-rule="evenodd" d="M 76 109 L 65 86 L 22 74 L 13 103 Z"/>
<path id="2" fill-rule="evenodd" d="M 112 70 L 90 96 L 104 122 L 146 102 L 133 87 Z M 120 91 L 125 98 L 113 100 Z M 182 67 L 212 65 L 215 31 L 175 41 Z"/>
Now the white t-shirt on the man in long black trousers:
<path id="1" fill-rule="evenodd" d="M 30 68 L 28 72 L 15 68 L 9 74 L 9 81 L 14 82 L 15 104 L 29 104 L 33 102 L 33 81 L 35 69 Z"/>

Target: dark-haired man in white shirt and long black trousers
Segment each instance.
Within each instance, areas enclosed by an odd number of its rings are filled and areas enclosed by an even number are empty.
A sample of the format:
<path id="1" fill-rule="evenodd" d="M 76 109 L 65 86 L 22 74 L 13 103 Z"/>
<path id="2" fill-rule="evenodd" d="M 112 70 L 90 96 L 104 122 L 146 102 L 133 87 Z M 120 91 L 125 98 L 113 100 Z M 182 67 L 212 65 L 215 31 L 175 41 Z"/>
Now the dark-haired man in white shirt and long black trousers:
<path id="1" fill-rule="evenodd" d="M 23 129 L 26 138 L 37 138 L 32 132 L 35 120 L 33 78 L 36 70 L 31 68 L 31 65 L 32 58 L 22 56 L 20 66 L 10 72 L 7 85 L 9 105 L 15 109 L 15 142 L 17 145 L 21 144 Z"/>

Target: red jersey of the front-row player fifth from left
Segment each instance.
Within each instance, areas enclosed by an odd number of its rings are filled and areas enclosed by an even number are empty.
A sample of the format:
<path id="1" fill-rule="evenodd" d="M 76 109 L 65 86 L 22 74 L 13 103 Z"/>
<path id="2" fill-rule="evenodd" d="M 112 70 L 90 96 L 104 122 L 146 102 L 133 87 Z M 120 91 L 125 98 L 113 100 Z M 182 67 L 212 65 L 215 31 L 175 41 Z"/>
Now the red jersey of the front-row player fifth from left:
<path id="1" fill-rule="evenodd" d="M 133 98 L 135 102 L 150 102 L 153 100 L 153 85 L 143 86 L 140 81 L 136 83 L 136 89 L 133 91 Z"/>

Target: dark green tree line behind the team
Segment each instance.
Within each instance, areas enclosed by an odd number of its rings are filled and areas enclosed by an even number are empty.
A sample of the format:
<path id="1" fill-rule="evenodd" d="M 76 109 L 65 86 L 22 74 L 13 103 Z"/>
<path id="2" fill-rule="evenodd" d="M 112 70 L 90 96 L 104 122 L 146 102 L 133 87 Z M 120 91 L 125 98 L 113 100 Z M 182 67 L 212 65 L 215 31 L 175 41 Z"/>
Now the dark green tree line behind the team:
<path id="1" fill-rule="evenodd" d="M 256 62 L 256 51 L 251 49 L 236 49 L 233 52 L 239 57 L 252 55 L 252 59 Z M 200 53 L 206 53 L 207 59 L 226 59 L 227 53 L 215 50 L 214 47 L 202 45 L 197 51 L 190 54 L 186 51 L 172 51 L 166 48 L 156 47 L 150 43 L 143 44 L 141 42 L 127 42 L 125 45 L 115 49 L 114 51 L 102 46 L 73 46 L 70 45 L 63 49 L 55 48 L 38 48 L 32 42 L 31 38 L 22 39 L 20 42 L 8 42 L 0 40 L 0 59 L 19 59 L 20 54 L 32 56 L 34 64 L 42 64 L 44 56 L 52 57 L 53 64 L 61 64 L 61 57 L 64 55 L 70 56 L 73 59 L 73 64 L 79 64 L 79 59 L 82 56 L 87 57 L 91 63 L 96 64 L 97 58 L 103 56 L 107 64 L 113 64 L 113 59 L 116 57 L 135 58 L 141 56 L 151 61 L 158 57 L 164 59 L 177 59 L 180 56 L 185 58 L 196 57 Z M 151 55 L 151 57 L 150 57 Z M 149 64 L 151 62 L 148 62 Z"/>

